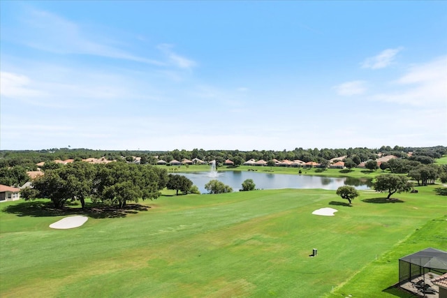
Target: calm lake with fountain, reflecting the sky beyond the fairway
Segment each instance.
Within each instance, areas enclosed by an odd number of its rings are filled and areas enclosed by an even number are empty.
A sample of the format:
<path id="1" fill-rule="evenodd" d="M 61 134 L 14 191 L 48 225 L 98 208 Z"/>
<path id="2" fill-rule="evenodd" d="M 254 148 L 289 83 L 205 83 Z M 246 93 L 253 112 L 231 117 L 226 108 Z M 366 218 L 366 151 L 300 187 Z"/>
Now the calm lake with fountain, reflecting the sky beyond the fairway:
<path id="1" fill-rule="evenodd" d="M 356 189 L 371 188 L 369 179 L 356 179 L 351 177 L 320 177 L 307 176 L 300 174 L 270 174 L 265 172 L 245 172 L 245 171 L 225 171 L 225 172 L 193 172 L 178 173 L 181 174 L 196 185 L 200 193 L 208 193 L 205 189 L 212 179 L 217 179 L 223 184 L 231 186 L 233 191 L 239 191 L 242 188 L 242 182 L 245 179 L 253 179 L 258 189 L 280 189 L 280 188 L 323 188 L 336 190 L 339 186 L 350 185 Z"/>

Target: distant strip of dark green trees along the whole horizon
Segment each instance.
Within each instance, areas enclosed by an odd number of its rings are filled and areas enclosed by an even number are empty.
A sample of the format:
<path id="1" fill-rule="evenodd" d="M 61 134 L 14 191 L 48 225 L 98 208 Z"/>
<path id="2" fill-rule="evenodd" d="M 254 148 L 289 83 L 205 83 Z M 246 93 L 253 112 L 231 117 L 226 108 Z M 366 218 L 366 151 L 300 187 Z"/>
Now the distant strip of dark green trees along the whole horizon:
<path id="1" fill-rule="evenodd" d="M 411 156 L 408 153 L 412 152 Z M 94 149 L 70 149 L 70 148 L 54 148 L 43 150 L 2 150 L 0 151 L 0 168 L 14 167 L 21 165 L 27 170 L 37 170 L 36 163 L 67 160 L 76 158 L 105 158 L 108 161 L 119 160 L 124 158 L 126 161 L 133 161 L 133 158 L 139 157 L 140 163 L 156 164 L 156 161 L 163 159 L 164 161 L 182 161 L 184 158 L 192 160 L 199 158 L 203 161 L 216 161 L 217 164 L 223 164 L 226 159 L 230 159 L 235 165 L 242 165 L 245 161 L 253 158 L 254 160 L 263 159 L 271 161 L 277 159 L 279 161 L 300 160 L 305 163 L 314 161 L 316 163 L 325 163 L 332 158 L 346 156 L 350 158 L 356 165 L 369 160 L 375 160 L 378 154 L 394 155 L 399 158 L 408 159 L 409 161 L 420 161 L 424 164 L 433 163 L 436 158 L 441 158 L 447 154 L 447 147 L 390 147 L 382 146 L 379 149 L 368 149 L 366 147 L 356 147 L 348 149 L 303 149 L 295 148 L 293 150 L 274 151 L 274 150 L 204 150 L 193 149 L 191 151 L 178 150 L 173 151 L 112 151 L 112 150 L 94 150 Z"/>

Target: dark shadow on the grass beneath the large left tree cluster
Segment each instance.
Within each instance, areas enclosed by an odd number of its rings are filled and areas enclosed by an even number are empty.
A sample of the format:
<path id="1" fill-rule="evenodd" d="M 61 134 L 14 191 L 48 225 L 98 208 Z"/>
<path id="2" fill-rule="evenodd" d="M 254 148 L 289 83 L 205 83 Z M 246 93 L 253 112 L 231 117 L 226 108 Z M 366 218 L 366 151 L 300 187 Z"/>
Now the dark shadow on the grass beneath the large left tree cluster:
<path id="1" fill-rule="evenodd" d="M 140 204 L 127 204 L 123 209 L 119 209 L 116 206 L 94 203 L 86 204 L 84 210 L 69 207 L 75 205 L 78 204 L 68 203 L 64 208 L 54 208 L 52 202 L 29 201 L 6 206 L 2 211 L 17 216 L 31 217 L 85 215 L 91 218 L 117 218 L 126 217 L 127 214 L 137 214 L 140 211 L 147 211 L 150 208 Z"/>

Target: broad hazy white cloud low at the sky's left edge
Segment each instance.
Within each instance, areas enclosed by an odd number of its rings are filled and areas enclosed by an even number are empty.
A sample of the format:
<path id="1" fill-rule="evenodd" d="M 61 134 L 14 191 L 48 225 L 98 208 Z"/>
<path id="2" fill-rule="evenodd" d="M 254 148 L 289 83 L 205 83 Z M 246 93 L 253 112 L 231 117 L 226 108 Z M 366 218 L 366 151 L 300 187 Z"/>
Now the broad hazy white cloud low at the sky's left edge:
<path id="1" fill-rule="evenodd" d="M 155 80 L 163 80 L 151 77 L 150 73 L 125 70 L 117 73 L 87 66 L 72 68 L 27 59 L 16 61 L 14 65 L 6 63 L 2 68 L 6 70 L 0 72 L 3 103 L 22 102 L 34 107 L 73 111 L 86 106 L 90 107 L 88 110 L 113 107 L 123 98 L 137 103 L 158 101 L 163 96 L 162 91 L 154 87 Z M 13 71 L 8 71 L 11 69 Z"/>

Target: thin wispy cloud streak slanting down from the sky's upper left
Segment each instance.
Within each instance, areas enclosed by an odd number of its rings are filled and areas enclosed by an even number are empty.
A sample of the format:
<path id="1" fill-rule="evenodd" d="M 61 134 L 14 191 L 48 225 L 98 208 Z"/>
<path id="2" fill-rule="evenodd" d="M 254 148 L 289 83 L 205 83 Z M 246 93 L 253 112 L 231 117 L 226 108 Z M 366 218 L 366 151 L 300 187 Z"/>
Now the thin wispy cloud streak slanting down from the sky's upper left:
<path id="1" fill-rule="evenodd" d="M 117 41 L 103 32 L 87 29 L 44 10 L 29 9 L 22 17 L 21 26 L 7 36 L 18 43 L 45 52 L 58 54 L 89 54 L 114 59 L 125 59 L 163 66 L 163 62 L 140 57 L 117 47 Z"/>

